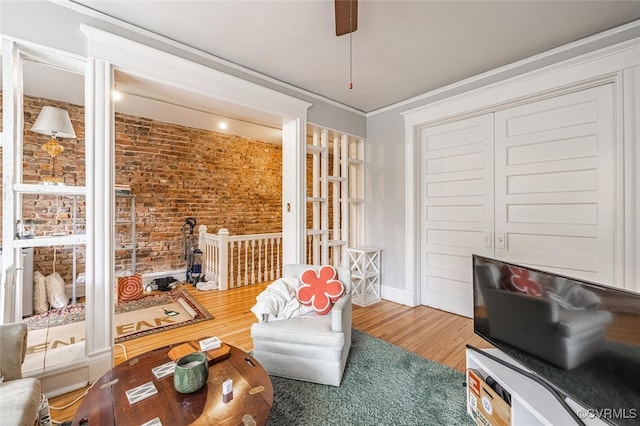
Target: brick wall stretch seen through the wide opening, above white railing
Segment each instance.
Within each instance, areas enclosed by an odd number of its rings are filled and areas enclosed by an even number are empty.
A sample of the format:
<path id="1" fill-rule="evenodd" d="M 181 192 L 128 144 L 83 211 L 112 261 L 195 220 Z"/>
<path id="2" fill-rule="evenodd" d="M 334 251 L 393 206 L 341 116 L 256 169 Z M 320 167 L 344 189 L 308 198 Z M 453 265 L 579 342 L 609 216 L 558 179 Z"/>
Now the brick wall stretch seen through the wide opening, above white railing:
<path id="1" fill-rule="evenodd" d="M 280 232 L 281 177 L 280 146 L 116 114 L 116 183 L 136 194 L 140 271 L 185 266 L 187 217 L 209 232 Z"/>

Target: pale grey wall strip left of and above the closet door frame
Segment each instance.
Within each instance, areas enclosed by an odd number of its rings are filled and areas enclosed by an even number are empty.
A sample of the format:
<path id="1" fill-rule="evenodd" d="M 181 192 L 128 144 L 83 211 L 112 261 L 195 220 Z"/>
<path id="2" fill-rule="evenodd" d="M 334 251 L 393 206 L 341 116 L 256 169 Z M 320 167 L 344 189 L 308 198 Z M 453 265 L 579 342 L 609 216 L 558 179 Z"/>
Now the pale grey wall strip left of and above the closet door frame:
<path id="1" fill-rule="evenodd" d="M 523 75 L 543 67 L 640 37 L 640 22 L 628 24 L 583 41 L 554 49 L 491 72 L 425 93 L 367 116 L 366 224 L 365 243 L 383 248 L 383 298 L 416 305 L 415 259 L 413 242 L 407 237 L 407 177 L 405 175 L 407 135 L 402 114 L 426 107 L 455 95 L 491 87 L 492 84 Z M 407 264 L 408 263 L 408 264 Z M 416 277 L 417 279 L 417 277 Z"/>

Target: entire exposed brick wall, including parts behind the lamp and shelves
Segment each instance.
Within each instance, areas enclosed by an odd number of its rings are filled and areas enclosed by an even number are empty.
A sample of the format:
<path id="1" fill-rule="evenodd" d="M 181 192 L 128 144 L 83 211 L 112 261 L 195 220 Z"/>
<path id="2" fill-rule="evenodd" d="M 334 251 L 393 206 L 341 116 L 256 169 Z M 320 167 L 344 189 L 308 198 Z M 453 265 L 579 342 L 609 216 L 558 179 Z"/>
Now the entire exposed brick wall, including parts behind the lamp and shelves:
<path id="1" fill-rule="evenodd" d="M 46 137 L 28 129 L 43 105 L 69 111 L 78 136 L 65 139 L 56 159 L 56 175 L 67 185 L 84 185 L 84 111 L 81 106 L 39 98 L 24 102 L 24 179 L 36 183 L 50 173 L 50 159 L 40 145 Z M 282 230 L 282 148 L 211 131 L 187 128 L 141 117 L 116 114 L 115 175 L 136 195 L 138 272 L 185 268 L 182 223 L 196 218 L 209 232 L 227 228 L 231 235 Z M 1 159 L 1 153 L 0 153 Z M 72 197 L 23 196 L 23 217 L 38 218 L 38 235 L 70 232 Z M 79 224 L 85 206 L 78 198 Z M 124 209 L 116 208 L 116 216 Z M 126 227 L 119 227 L 127 231 Z M 197 241 L 197 229 L 195 238 Z M 126 237 L 117 239 L 122 241 Z M 77 250 L 84 271 L 84 249 Z M 52 271 L 53 250 L 36 249 L 34 270 Z M 118 252 L 116 270 L 129 269 L 129 254 Z M 56 270 L 71 278 L 72 251 L 56 251 Z"/>

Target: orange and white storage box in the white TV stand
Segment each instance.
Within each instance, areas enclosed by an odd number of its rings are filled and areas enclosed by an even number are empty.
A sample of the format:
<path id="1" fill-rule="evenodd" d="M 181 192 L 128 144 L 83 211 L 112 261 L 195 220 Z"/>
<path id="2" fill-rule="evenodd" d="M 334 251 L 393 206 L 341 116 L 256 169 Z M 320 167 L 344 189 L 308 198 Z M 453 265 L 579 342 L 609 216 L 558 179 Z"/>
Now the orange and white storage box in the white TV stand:
<path id="1" fill-rule="evenodd" d="M 467 369 L 467 411 L 481 426 L 511 425 L 511 406 L 484 381 L 482 374 Z"/>

